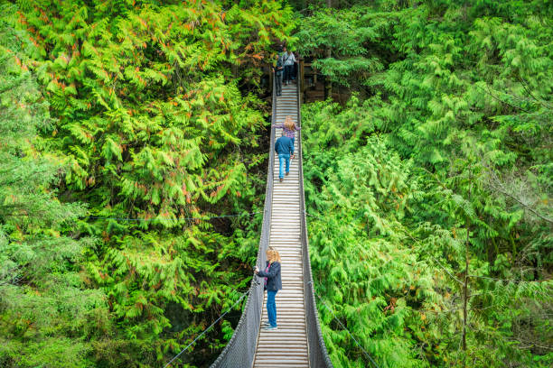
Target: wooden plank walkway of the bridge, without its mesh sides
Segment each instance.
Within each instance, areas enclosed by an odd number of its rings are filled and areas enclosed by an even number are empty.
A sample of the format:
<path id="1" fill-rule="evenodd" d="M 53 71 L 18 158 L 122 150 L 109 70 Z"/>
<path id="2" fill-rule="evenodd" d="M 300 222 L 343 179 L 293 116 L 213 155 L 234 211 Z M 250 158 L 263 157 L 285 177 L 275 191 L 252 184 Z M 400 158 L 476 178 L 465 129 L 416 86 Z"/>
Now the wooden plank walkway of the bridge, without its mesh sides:
<path id="1" fill-rule="evenodd" d="M 297 120 L 296 85 L 282 87 L 277 97 L 277 124 L 284 123 L 286 115 Z M 298 124 L 299 125 L 299 124 Z M 277 129 L 276 138 L 282 129 Z M 307 332 L 305 330 L 304 272 L 300 239 L 300 194 L 296 133 L 295 159 L 290 162 L 290 174 L 281 183 L 278 180 L 278 158 L 275 156 L 273 181 L 273 216 L 269 245 L 276 247 L 282 257 L 282 290 L 277 293 L 277 331 L 260 329 L 254 368 L 309 367 Z M 274 147 L 270 147 L 274 150 Z M 267 293 L 263 300 L 261 322 L 267 321 Z"/>

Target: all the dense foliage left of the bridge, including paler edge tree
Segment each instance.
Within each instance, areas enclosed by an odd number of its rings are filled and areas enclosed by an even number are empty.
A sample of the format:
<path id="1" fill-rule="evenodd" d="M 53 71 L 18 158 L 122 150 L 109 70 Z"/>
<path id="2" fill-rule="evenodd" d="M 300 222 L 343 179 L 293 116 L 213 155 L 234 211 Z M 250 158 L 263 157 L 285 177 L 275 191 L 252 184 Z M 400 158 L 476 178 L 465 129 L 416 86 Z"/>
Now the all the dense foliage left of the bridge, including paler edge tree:
<path id="1" fill-rule="evenodd" d="M 13 177 L 0 183 L 0 365 L 161 366 L 248 287 L 267 160 L 260 67 L 291 11 L 272 0 L 2 11 Z M 210 363 L 239 314 L 180 364 Z"/>

